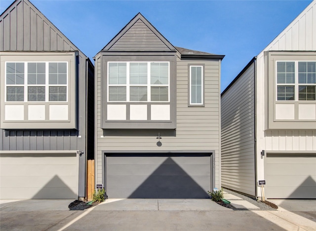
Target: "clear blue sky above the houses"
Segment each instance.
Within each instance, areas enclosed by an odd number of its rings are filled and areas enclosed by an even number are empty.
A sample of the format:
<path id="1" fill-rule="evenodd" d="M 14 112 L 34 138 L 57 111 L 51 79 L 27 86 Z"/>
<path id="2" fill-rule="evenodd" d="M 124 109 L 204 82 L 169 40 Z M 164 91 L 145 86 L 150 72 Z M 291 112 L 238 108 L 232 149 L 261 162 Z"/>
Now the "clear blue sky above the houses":
<path id="1" fill-rule="evenodd" d="M 0 0 L 2 13 L 13 0 Z M 221 91 L 312 0 L 31 0 L 91 61 L 138 12 L 171 44 L 225 55 Z"/>

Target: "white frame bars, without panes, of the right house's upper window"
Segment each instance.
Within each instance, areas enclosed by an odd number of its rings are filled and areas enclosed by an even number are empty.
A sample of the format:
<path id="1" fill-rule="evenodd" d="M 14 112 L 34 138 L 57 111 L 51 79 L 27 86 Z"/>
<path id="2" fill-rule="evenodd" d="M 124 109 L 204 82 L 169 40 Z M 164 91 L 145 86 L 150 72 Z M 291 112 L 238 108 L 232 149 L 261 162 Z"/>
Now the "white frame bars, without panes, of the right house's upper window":
<path id="1" fill-rule="evenodd" d="M 294 62 L 294 83 L 277 83 L 277 63 L 279 62 Z M 314 102 L 316 100 L 299 100 L 299 86 L 316 86 L 316 84 L 311 84 L 311 83 L 298 83 L 298 63 L 300 62 L 316 62 L 313 60 L 277 60 L 276 61 L 276 69 L 275 69 L 275 84 L 276 84 L 276 101 L 277 102 L 294 102 L 294 101 L 299 101 L 299 102 Z M 294 86 L 294 100 L 277 100 L 277 86 Z"/>

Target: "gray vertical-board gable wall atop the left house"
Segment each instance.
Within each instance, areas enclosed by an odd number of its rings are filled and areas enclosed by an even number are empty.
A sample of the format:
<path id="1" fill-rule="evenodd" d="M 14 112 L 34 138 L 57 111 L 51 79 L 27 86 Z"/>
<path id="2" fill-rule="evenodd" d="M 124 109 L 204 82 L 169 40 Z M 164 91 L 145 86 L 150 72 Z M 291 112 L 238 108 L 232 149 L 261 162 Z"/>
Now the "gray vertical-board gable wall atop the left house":
<path id="1" fill-rule="evenodd" d="M 0 51 L 79 51 L 29 0 L 0 15 Z"/>

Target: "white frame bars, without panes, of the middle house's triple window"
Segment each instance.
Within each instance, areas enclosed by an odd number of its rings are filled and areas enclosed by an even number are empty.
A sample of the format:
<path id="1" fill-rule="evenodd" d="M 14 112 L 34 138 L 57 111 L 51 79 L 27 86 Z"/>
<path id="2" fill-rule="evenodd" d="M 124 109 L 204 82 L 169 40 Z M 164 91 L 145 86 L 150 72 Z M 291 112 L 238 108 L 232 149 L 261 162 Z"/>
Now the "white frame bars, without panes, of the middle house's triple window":
<path id="1" fill-rule="evenodd" d="M 126 84 L 109 84 L 109 64 L 110 63 L 126 63 Z M 147 85 L 145 84 L 130 84 L 129 81 L 129 68 L 130 63 L 147 63 Z M 151 64 L 152 63 L 167 63 L 168 64 L 168 84 L 151 84 Z M 126 101 L 110 101 L 109 100 L 109 87 L 126 87 Z M 147 87 L 147 101 L 131 101 L 130 100 L 130 87 Z M 168 100 L 167 101 L 152 101 L 151 100 L 151 87 L 168 87 Z M 108 62 L 107 64 L 107 102 L 170 102 L 170 62 Z"/>

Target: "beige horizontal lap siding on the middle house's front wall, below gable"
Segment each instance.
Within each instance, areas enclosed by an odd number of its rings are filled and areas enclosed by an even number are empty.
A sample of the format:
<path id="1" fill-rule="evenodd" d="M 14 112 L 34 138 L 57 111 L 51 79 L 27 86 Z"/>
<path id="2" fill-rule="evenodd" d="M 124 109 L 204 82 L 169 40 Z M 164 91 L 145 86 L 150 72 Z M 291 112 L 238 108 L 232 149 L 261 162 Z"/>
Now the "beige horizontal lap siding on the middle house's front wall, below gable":
<path id="1" fill-rule="evenodd" d="M 216 182 L 219 186 L 219 62 L 177 60 L 177 129 L 160 131 L 161 147 L 157 146 L 158 131 L 103 131 L 101 127 L 101 61 L 96 57 L 96 153 L 97 182 L 102 183 L 102 151 L 190 151 L 215 150 Z M 188 64 L 205 63 L 205 106 L 188 107 Z M 212 84 L 212 86 L 209 86 Z M 104 137 L 101 137 L 104 136 Z"/>

